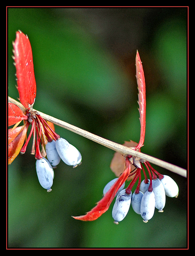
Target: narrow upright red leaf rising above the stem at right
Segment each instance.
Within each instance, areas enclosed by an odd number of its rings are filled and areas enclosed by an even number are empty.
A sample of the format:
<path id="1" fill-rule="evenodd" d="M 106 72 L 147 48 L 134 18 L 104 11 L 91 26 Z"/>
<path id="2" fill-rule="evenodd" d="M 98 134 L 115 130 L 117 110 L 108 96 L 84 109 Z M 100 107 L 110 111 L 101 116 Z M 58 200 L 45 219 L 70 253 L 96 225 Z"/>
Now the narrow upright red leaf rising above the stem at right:
<path id="1" fill-rule="evenodd" d="M 142 62 L 139 57 L 139 52 L 136 54 L 136 79 L 138 85 L 138 104 L 139 104 L 139 120 L 141 124 L 141 133 L 139 143 L 136 146 L 136 149 L 139 149 L 144 144 L 145 139 L 145 113 L 146 113 L 146 101 L 145 101 L 145 77 L 142 67 Z"/>

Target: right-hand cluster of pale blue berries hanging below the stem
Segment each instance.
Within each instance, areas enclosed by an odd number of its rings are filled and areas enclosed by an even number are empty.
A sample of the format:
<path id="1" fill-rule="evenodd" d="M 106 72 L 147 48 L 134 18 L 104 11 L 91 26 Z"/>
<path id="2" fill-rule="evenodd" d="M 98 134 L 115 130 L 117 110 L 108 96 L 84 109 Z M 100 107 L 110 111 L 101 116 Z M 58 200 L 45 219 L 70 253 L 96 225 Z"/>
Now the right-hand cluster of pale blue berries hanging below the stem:
<path id="1" fill-rule="evenodd" d="M 114 184 L 116 179 L 111 180 L 104 188 L 103 193 L 107 188 Z M 134 183 L 134 181 L 132 180 Z M 131 186 L 130 186 L 131 185 Z M 129 188 L 132 188 L 130 183 L 128 188 L 125 187 L 125 182 L 117 191 L 117 198 L 112 209 L 112 217 L 114 223 L 122 221 L 128 213 L 130 205 L 133 210 L 142 216 L 143 222 L 148 222 L 153 217 L 154 210 L 157 208 L 159 212 L 163 212 L 165 206 L 166 196 L 177 197 L 178 185 L 175 181 L 167 175 L 159 174 L 159 178 L 155 175 L 153 179 L 148 180 L 147 177 L 140 183 L 138 182 L 137 188 L 132 194 Z"/>

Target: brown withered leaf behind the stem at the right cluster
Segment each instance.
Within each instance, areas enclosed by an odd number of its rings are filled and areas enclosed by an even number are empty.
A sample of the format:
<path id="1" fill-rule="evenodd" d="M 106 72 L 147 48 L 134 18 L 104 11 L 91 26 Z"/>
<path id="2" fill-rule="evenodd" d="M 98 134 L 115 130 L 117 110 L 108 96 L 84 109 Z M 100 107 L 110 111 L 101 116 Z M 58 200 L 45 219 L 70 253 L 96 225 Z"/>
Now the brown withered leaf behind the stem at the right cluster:
<path id="1" fill-rule="evenodd" d="M 123 146 L 126 146 L 128 148 L 132 147 L 136 147 L 138 143 L 130 140 L 130 141 L 125 141 L 125 143 L 123 144 Z M 125 159 L 124 156 L 118 152 L 114 153 L 114 156 L 111 160 L 111 164 L 110 164 L 110 168 L 111 171 L 114 172 L 114 174 L 119 177 L 120 174 L 123 173 L 124 168 L 125 168 Z M 131 164 L 131 171 L 133 171 L 135 169 L 134 165 Z M 134 178 L 135 175 L 130 176 L 127 180 L 131 180 Z"/>

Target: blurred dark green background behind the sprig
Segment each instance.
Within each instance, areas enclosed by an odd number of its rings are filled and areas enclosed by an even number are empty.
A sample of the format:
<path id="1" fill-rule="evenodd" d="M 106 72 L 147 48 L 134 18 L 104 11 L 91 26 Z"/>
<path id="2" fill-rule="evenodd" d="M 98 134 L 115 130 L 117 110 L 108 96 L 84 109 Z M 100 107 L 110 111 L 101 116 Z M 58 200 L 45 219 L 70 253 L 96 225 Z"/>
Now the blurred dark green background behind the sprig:
<path id="1" fill-rule="evenodd" d="M 142 152 L 187 168 L 187 8 L 9 8 L 8 94 L 14 99 L 18 29 L 32 46 L 34 108 L 121 144 L 139 142 L 138 49 L 147 92 Z M 154 165 L 180 190 L 177 199 L 167 198 L 164 213 L 156 211 L 145 224 L 130 208 L 114 225 L 112 202 L 94 222 L 73 219 L 91 210 L 115 178 L 114 151 L 57 126 L 56 132 L 81 151 L 82 165 L 61 161 L 50 193 L 39 184 L 31 142 L 9 165 L 9 247 L 187 246 L 187 180 Z"/>

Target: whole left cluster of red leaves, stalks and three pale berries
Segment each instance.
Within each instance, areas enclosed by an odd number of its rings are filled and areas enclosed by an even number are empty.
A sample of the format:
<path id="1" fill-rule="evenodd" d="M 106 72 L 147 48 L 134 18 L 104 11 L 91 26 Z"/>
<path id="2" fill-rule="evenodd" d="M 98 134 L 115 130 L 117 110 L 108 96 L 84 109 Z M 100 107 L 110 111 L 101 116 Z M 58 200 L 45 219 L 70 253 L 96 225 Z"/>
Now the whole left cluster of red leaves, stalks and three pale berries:
<path id="1" fill-rule="evenodd" d="M 62 159 L 67 165 L 75 168 L 81 164 L 81 153 L 66 139 L 56 134 L 53 123 L 49 124 L 37 111 L 33 110 L 36 99 L 36 81 L 28 36 L 20 30 L 17 31 L 13 47 L 17 89 L 25 111 L 23 113 L 17 105 L 8 103 L 8 126 L 14 125 L 8 130 L 8 164 L 11 164 L 19 153 L 26 152 L 28 142 L 33 136 L 31 154 L 37 159 L 37 176 L 42 187 L 50 192 L 54 178 L 53 167 L 56 167 Z M 22 120 L 24 125 L 18 127 Z M 30 125 L 31 131 L 26 139 Z"/>

